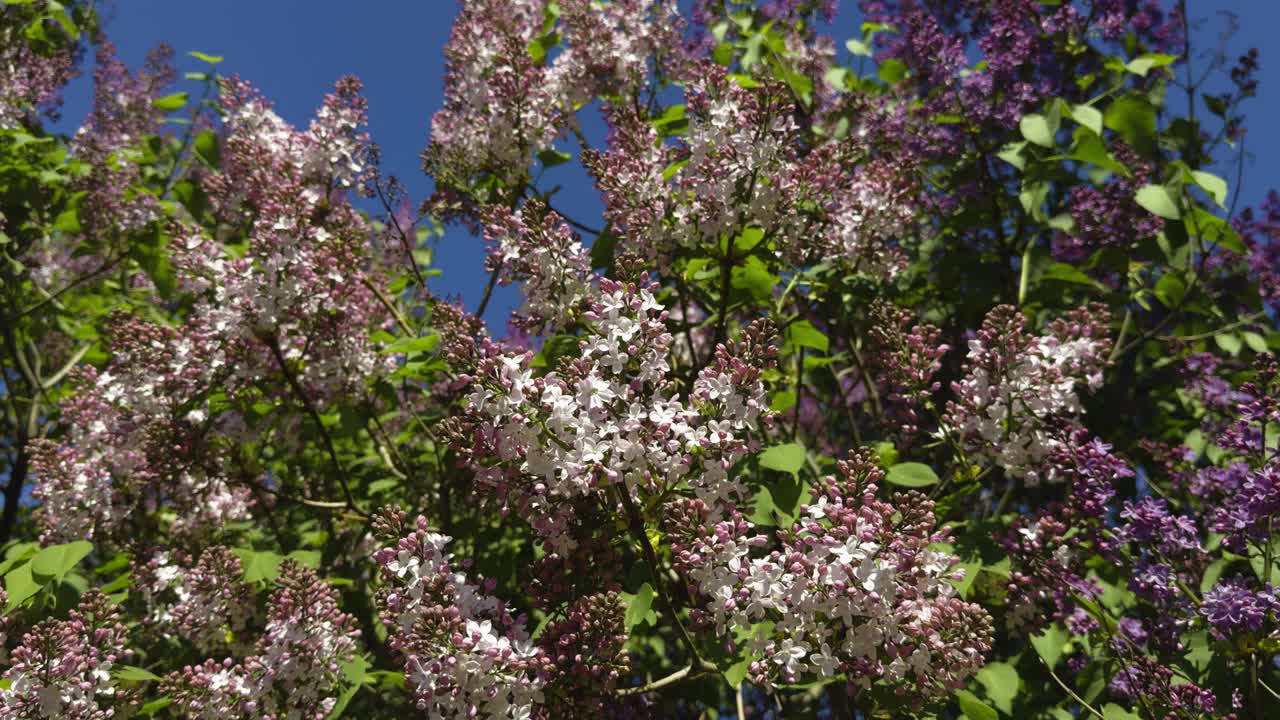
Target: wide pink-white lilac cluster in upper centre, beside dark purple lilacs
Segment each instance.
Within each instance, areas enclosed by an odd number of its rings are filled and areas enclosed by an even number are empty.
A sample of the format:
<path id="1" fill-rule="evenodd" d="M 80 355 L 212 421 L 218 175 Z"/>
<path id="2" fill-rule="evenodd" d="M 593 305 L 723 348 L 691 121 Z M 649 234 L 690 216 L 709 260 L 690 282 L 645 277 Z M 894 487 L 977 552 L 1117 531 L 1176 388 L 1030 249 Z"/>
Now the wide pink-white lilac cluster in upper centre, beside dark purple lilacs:
<path id="1" fill-rule="evenodd" d="M 897 270 L 895 242 L 914 218 L 906 168 L 868 161 L 858 132 L 806 151 L 791 91 L 771 79 L 749 90 L 719 65 L 699 65 L 686 100 L 678 145 L 658 142 L 646 118 L 613 109 L 608 151 L 584 154 L 605 217 L 634 251 L 666 265 L 677 249 L 756 228 L 762 240 L 736 252 L 767 240 L 797 264 L 836 258 L 872 274 Z"/>

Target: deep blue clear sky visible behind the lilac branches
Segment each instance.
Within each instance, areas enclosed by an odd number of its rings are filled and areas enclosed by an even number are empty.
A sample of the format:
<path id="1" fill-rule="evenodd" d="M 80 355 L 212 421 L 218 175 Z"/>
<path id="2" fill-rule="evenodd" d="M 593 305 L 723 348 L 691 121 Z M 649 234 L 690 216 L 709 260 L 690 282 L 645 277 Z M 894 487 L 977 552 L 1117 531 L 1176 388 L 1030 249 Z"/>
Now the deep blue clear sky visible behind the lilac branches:
<path id="1" fill-rule="evenodd" d="M 854 4 L 844 1 L 846 6 Z M 1280 137 L 1268 127 L 1280 117 L 1280 72 L 1275 69 L 1280 60 L 1268 53 L 1268 41 L 1280 28 L 1280 1 L 1189 4 L 1193 18 L 1207 20 L 1197 33 L 1201 47 L 1216 45 L 1225 27 L 1217 14 L 1230 12 L 1240 18 L 1230 50 L 1261 51 L 1260 95 L 1245 110 L 1252 128 L 1247 150 L 1253 158 L 1245 165 L 1240 206 L 1257 204 L 1268 188 L 1280 187 Z M 294 124 L 307 123 L 338 77 L 358 76 L 369 99 L 370 132 L 383 149 L 384 172 L 398 176 L 417 201 L 430 192 L 417 156 L 426 145 L 431 113 L 440 105 L 442 49 L 454 9 L 451 0 L 372 0 L 360 12 L 338 0 L 122 0 L 105 12 L 105 28 L 131 67 L 137 67 L 160 41 L 177 50 L 179 70 L 201 69 L 202 63 L 186 56 L 187 51 L 223 55 L 223 73 L 238 73 L 253 83 Z M 846 10 L 837 18 L 832 28 L 837 40 L 858 33 L 851 14 Z M 88 109 L 87 76 L 68 92 L 65 129 L 78 124 Z M 588 224 L 598 224 L 599 197 L 581 173 L 567 168 L 550 170 L 544 184 L 562 184 L 556 205 Z M 474 309 L 485 282 L 483 259 L 483 241 L 451 229 L 439 245 L 436 265 L 444 273 L 433 279 L 433 290 L 460 295 Z M 499 288 L 486 313 L 490 327 L 502 323 L 517 301 L 513 288 Z"/>

